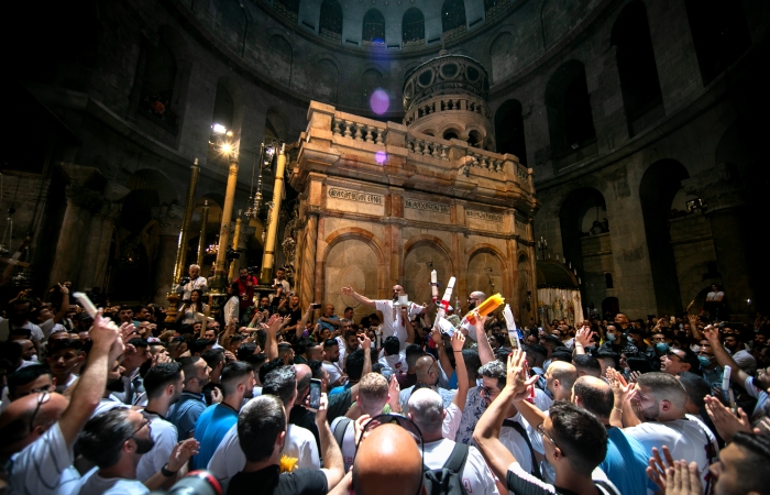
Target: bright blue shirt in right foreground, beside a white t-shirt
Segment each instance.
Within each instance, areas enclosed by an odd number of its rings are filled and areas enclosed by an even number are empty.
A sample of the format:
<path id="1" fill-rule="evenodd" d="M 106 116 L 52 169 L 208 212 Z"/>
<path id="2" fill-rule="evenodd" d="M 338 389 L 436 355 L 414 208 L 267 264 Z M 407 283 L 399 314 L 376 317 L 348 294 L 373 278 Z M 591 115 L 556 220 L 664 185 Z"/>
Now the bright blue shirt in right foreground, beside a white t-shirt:
<path id="1" fill-rule="evenodd" d="M 607 430 L 607 455 L 598 465 L 623 495 L 646 495 L 647 451 L 639 442 L 619 428 Z"/>

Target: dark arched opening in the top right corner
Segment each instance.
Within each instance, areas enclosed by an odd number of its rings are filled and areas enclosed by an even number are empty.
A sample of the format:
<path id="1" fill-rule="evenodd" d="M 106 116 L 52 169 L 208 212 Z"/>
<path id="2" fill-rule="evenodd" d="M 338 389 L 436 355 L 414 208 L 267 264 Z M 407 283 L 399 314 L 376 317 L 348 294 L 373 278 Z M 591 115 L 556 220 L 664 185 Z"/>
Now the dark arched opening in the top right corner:
<path id="1" fill-rule="evenodd" d="M 685 0 L 684 6 L 706 86 L 751 46 L 743 2 Z"/>

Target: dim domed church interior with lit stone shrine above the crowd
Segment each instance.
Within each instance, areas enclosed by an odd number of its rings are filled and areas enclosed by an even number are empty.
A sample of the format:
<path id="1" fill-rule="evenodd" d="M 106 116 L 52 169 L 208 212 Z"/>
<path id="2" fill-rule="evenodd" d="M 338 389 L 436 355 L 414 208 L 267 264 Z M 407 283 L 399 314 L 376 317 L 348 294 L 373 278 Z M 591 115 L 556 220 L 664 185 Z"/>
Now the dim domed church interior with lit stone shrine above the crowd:
<path id="1" fill-rule="evenodd" d="M 197 264 L 340 312 L 433 271 L 525 322 L 770 309 L 768 2 L 41 7 L 4 21 L 3 300 L 168 306 Z"/>

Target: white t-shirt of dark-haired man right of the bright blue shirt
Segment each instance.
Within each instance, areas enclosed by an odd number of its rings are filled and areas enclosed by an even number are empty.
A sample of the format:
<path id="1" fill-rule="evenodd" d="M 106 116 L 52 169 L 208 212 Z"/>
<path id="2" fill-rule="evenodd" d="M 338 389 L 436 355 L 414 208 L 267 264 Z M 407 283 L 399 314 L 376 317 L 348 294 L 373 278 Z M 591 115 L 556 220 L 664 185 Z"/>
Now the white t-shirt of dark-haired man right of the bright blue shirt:
<path id="1" fill-rule="evenodd" d="M 714 433 L 695 416 L 686 415 L 686 419 L 666 422 L 642 422 L 625 428 L 623 432 L 639 440 L 650 457 L 653 447 L 662 451 L 661 448 L 667 446 L 673 459 L 696 462 L 703 486 L 706 486 L 708 465 L 716 460 L 719 446 Z M 707 451 L 713 452 L 713 459 L 706 457 Z"/>

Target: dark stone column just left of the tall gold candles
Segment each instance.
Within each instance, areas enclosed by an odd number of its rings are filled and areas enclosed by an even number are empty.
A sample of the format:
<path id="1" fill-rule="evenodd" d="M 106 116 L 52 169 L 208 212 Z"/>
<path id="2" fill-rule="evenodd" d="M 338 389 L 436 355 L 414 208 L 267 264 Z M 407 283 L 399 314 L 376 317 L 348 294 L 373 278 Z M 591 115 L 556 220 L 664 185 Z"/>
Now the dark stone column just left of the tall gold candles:
<path id="1" fill-rule="evenodd" d="M 155 296 L 153 301 L 166 306 L 166 295 L 173 289 L 172 278 L 179 244 L 185 209 L 178 205 L 153 208 L 153 218 L 161 224 L 157 260 L 155 261 Z"/>

